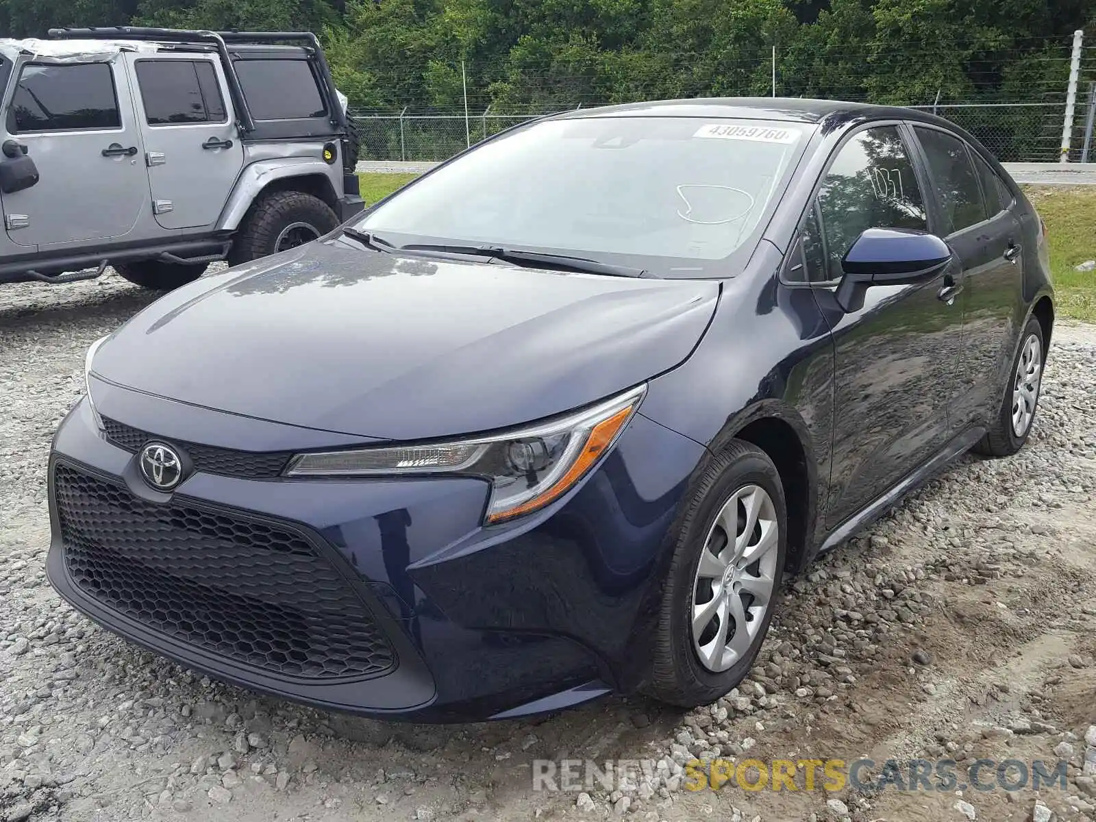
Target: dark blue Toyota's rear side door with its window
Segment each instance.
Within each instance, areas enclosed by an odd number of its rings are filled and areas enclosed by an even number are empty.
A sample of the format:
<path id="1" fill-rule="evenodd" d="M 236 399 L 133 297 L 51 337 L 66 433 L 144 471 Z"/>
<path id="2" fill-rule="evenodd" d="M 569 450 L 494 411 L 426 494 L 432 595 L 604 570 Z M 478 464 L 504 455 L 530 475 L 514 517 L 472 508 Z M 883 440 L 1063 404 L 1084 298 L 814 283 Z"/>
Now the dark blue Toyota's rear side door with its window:
<path id="1" fill-rule="evenodd" d="M 1006 207 L 1012 195 L 1003 202 L 1004 184 L 972 147 L 934 126 L 918 124 L 914 133 L 937 191 L 946 240 L 963 269 L 963 357 L 950 415 L 958 432 L 984 423 L 1001 402 L 1023 283 L 1020 227 Z"/>

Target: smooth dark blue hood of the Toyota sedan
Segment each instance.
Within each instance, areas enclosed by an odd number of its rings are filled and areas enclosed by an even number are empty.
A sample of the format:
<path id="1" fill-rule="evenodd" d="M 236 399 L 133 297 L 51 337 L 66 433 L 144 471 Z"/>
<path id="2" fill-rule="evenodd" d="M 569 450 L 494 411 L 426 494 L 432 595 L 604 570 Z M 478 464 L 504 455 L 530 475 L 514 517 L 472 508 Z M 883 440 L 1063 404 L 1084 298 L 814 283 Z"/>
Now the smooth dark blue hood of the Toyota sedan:
<path id="1" fill-rule="evenodd" d="M 683 362 L 710 281 L 517 269 L 336 238 L 208 275 L 95 355 L 112 383 L 381 439 L 468 434 L 602 399 Z"/>

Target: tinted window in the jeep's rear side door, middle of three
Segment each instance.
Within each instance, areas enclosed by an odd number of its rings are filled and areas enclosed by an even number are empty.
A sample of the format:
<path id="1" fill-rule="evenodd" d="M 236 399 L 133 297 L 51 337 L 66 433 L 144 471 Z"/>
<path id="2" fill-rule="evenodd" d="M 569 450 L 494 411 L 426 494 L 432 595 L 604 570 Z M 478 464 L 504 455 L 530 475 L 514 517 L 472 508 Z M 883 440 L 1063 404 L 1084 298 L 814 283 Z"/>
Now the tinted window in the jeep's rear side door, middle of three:
<path id="1" fill-rule="evenodd" d="M 209 60 L 137 60 L 137 82 L 149 125 L 225 122 Z"/>

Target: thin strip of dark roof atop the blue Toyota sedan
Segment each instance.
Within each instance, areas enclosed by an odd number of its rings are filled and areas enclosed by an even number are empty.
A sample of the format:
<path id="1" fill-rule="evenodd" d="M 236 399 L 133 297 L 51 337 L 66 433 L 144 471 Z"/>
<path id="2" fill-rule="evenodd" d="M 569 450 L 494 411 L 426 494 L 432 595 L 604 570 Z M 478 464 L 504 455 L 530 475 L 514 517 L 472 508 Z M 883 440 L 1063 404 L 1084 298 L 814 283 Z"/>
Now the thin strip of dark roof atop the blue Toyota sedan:
<path id="1" fill-rule="evenodd" d="M 733 119 L 774 119 L 798 123 L 840 125 L 847 121 L 913 119 L 933 123 L 955 130 L 955 125 L 917 109 L 846 100 L 811 98 L 695 98 L 690 100 L 655 100 L 624 103 L 597 109 L 578 109 L 555 115 L 560 119 L 580 117 L 720 117 Z"/>

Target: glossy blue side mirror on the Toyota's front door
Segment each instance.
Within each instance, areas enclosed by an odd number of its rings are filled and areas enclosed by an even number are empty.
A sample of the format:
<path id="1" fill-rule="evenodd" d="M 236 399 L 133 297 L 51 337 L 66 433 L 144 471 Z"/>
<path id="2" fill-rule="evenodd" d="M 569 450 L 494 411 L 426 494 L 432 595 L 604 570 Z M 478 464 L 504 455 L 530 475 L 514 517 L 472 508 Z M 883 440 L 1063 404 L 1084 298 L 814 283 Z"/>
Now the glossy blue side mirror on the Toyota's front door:
<path id="1" fill-rule="evenodd" d="M 845 252 L 836 299 L 845 312 L 864 308 L 872 285 L 911 285 L 935 277 L 951 262 L 951 249 L 936 235 L 900 228 L 869 228 Z"/>

